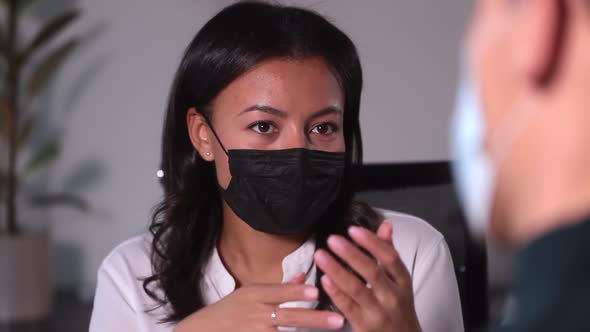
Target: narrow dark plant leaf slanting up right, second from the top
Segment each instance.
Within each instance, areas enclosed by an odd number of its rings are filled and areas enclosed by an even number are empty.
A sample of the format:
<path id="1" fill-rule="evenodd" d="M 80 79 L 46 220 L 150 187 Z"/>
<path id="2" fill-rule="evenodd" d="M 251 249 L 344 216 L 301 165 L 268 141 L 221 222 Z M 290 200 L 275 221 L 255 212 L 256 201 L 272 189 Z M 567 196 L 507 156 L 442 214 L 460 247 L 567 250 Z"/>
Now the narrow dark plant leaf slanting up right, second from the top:
<path id="1" fill-rule="evenodd" d="M 27 82 L 27 94 L 29 97 L 36 96 L 65 62 L 67 57 L 78 46 L 78 39 L 74 38 L 55 49 L 42 61 L 31 74 Z"/>

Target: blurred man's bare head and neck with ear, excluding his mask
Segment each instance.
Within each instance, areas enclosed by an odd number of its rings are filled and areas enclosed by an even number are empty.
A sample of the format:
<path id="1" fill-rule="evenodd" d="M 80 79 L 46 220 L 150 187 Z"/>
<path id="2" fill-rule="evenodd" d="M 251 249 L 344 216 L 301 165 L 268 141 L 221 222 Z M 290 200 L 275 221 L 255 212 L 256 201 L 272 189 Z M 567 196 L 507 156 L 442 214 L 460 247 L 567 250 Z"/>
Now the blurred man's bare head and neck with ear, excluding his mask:
<path id="1" fill-rule="evenodd" d="M 498 167 L 492 235 L 589 213 L 590 1 L 479 0 L 466 49 Z"/>

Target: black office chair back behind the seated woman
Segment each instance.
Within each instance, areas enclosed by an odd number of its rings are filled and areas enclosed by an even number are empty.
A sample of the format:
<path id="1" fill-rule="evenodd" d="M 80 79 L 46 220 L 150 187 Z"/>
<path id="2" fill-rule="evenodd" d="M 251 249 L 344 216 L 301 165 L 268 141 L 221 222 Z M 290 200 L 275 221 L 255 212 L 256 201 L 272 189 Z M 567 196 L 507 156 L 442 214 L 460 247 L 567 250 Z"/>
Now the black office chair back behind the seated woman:
<path id="1" fill-rule="evenodd" d="M 466 228 L 448 162 L 363 165 L 357 199 L 429 222 L 449 245 L 467 331 L 488 323 L 487 256 Z"/>

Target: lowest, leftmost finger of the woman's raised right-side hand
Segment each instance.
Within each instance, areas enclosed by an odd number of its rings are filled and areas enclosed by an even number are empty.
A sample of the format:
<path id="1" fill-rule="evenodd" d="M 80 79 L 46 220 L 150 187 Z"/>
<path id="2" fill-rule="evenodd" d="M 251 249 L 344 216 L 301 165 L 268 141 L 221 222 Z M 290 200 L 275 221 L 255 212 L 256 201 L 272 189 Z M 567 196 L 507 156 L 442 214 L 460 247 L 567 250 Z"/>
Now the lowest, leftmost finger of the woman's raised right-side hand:
<path id="1" fill-rule="evenodd" d="M 332 257 L 326 250 L 320 249 L 314 255 L 317 266 L 334 281 L 334 284 L 355 302 L 354 310 L 371 310 L 377 301 L 366 285 Z"/>

